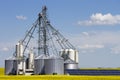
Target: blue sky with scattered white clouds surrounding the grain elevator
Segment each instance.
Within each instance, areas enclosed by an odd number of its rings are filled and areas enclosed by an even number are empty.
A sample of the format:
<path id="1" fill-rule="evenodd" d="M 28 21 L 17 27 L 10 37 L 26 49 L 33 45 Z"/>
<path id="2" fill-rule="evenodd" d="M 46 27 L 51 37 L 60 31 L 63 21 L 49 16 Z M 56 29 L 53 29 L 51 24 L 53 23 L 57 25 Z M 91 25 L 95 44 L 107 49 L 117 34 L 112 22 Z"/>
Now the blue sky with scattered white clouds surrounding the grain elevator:
<path id="1" fill-rule="evenodd" d="M 41 11 L 79 50 L 79 67 L 120 67 L 120 0 L 0 0 L 0 67 Z"/>

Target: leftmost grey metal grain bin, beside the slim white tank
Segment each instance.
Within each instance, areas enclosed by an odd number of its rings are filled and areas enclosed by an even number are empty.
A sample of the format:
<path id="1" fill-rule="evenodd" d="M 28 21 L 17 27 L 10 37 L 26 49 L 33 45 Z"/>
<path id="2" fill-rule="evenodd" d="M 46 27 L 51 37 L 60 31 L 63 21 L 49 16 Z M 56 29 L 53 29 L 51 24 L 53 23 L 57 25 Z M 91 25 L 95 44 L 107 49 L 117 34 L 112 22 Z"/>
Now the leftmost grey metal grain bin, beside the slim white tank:
<path id="1" fill-rule="evenodd" d="M 12 57 L 5 60 L 5 74 L 15 75 L 17 73 L 17 60 Z"/>

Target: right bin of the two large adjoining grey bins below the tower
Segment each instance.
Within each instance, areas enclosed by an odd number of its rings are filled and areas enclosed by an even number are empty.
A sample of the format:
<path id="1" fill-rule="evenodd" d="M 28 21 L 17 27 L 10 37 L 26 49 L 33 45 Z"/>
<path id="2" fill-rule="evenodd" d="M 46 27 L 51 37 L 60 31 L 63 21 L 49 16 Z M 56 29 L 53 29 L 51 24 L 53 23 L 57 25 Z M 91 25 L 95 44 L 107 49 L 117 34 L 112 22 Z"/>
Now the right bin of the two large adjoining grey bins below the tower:
<path id="1" fill-rule="evenodd" d="M 64 59 L 53 55 L 45 59 L 45 74 L 64 74 Z"/>

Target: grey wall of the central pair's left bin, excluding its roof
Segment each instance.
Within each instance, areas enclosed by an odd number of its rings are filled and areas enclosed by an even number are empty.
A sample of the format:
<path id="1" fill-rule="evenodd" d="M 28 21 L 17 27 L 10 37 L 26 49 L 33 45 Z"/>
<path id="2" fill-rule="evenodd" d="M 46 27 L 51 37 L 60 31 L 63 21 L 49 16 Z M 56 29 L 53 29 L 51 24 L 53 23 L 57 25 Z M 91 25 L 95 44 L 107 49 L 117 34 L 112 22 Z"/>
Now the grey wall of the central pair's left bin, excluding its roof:
<path id="1" fill-rule="evenodd" d="M 44 74 L 44 59 L 34 60 L 34 74 Z"/>

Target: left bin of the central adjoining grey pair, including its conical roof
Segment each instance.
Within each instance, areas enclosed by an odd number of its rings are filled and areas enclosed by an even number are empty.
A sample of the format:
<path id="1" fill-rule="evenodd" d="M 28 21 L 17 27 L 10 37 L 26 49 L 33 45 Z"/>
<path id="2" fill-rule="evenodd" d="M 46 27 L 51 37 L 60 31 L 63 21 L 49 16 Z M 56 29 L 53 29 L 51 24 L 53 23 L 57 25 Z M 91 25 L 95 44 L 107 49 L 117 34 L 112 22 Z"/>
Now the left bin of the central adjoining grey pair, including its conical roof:
<path id="1" fill-rule="evenodd" d="M 42 54 L 34 59 L 34 74 L 45 74 L 44 59 L 47 57 Z"/>

